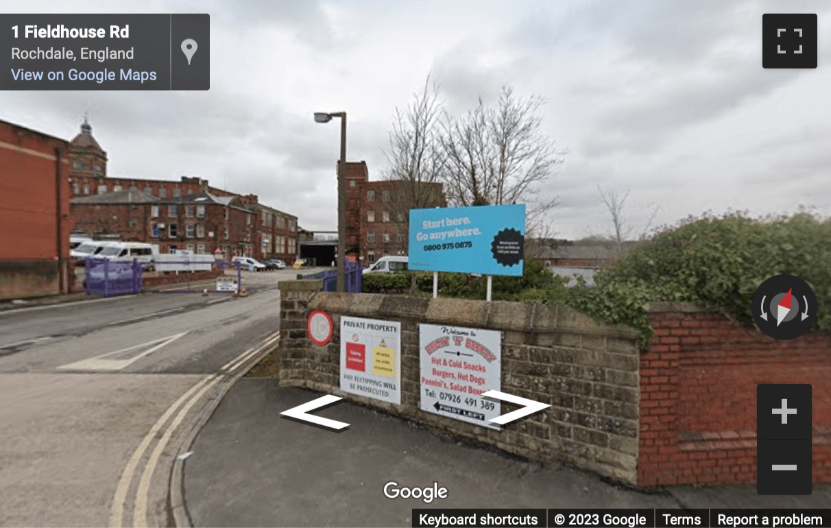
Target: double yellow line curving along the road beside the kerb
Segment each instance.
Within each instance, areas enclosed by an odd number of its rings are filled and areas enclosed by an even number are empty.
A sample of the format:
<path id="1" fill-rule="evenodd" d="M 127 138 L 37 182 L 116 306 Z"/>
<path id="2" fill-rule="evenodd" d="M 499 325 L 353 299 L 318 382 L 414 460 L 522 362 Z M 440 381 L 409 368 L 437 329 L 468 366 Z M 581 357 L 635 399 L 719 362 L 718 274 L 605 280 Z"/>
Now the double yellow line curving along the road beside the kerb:
<path id="1" fill-rule="evenodd" d="M 145 452 L 147 452 L 150 448 L 150 444 L 153 443 L 156 437 L 158 437 L 162 429 L 165 428 L 165 425 L 167 426 L 165 432 L 160 437 L 159 442 L 156 443 L 153 451 L 150 452 L 150 457 L 145 463 L 144 470 L 141 471 L 138 487 L 135 490 L 133 522 L 130 526 L 137 526 L 138 528 L 146 528 L 148 526 L 147 501 L 150 495 L 150 480 L 153 477 L 156 466 L 159 464 L 162 452 L 165 451 L 165 447 L 167 447 L 168 442 L 170 442 L 170 438 L 173 437 L 176 429 L 184 421 L 184 418 L 187 417 L 190 409 L 194 407 L 196 402 L 199 402 L 199 399 L 205 392 L 208 392 L 211 388 L 215 387 L 225 376 L 233 375 L 252 358 L 256 357 L 267 348 L 272 347 L 274 343 L 277 343 L 279 338 L 280 333 L 276 332 L 265 338 L 263 343 L 260 343 L 258 347 L 248 348 L 248 350 L 239 354 L 237 358 L 232 359 L 229 363 L 225 363 L 225 365 L 220 368 L 219 373 L 211 374 L 210 376 L 206 376 L 199 380 L 199 382 L 197 382 L 193 387 L 190 387 L 187 392 L 185 392 L 181 397 L 179 397 L 178 400 L 168 407 L 167 411 L 161 415 L 159 420 L 155 422 L 153 427 L 150 428 L 150 431 L 147 432 L 145 437 L 142 439 L 139 447 L 137 447 L 135 452 L 133 452 L 133 455 L 130 456 L 130 461 L 127 462 L 124 471 L 121 473 L 121 478 L 118 482 L 118 486 L 116 487 L 116 495 L 113 498 L 110 511 L 111 527 L 121 528 L 124 526 L 125 506 L 127 506 L 127 495 L 130 491 L 130 484 L 134 480 L 139 464 L 145 456 Z M 174 414 L 175 417 L 173 418 L 173 421 L 168 423 L 170 417 L 173 417 Z"/>

